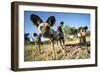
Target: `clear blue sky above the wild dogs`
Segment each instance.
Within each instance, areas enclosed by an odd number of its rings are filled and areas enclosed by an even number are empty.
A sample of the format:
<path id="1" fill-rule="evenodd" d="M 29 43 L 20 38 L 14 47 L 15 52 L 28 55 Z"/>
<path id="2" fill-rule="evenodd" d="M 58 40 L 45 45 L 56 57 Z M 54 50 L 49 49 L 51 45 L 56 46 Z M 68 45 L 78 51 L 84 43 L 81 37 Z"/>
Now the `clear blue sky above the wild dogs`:
<path id="1" fill-rule="evenodd" d="M 30 20 L 31 14 L 38 15 L 44 22 L 48 17 L 55 16 L 56 22 L 52 27 L 53 29 L 56 29 L 61 21 L 64 22 L 64 26 L 68 25 L 75 28 L 88 26 L 90 29 L 90 14 L 87 13 L 24 11 L 24 31 L 30 34 L 30 38 L 33 37 L 33 33 L 39 33 L 38 28 Z"/>

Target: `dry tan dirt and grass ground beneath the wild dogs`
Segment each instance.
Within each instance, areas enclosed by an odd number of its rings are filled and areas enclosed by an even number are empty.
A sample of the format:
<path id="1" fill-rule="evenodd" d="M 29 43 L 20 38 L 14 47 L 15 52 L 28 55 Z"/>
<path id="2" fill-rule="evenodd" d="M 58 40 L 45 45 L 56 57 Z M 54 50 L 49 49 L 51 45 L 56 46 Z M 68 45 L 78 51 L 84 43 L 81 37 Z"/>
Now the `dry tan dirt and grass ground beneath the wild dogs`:
<path id="1" fill-rule="evenodd" d="M 89 41 L 89 40 L 87 40 Z M 67 41 L 66 44 L 75 44 L 78 40 Z M 56 59 L 54 59 L 53 48 L 50 44 L 41 46 L 41 53 L 35 48 L 35 45 L 25 45 L 24 61 L 47 61 L 47 60 L 67 60 L 67 59 L 87 59 L 90 58 L 90 46 L 66 46 L 65 55 L 61 51 L 61 46 L 55 44 Z"/>

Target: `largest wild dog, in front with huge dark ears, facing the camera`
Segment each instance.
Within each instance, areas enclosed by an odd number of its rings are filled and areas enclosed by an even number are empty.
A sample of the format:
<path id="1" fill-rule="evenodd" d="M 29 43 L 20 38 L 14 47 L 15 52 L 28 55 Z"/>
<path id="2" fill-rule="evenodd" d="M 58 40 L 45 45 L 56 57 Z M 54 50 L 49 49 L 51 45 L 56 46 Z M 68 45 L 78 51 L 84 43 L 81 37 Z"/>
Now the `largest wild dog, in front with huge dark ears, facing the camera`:
<path id="1" fill-rule="evenodd" d="M 49 38 L 51 40 L 53 45 L 53 57 L 54 59 L 56 59 L 57 55 L 56 55 L 56 49 L 54 48 L 54 42 L 58 41 L 58 37 L 57 37 L 57 32 L 51 28 L 55 24 L 56 21 L 55 17 L 50 16 L 46 22 L 43 22 L 39 16 L 34 14 L 32 14 L 30 18 L 33 24 L 38 27 L 38 30 L 40 34 L 42 34 L 42 37 Z M 64 50 L 63 49 L 61 50 L 65 55 Z"/>

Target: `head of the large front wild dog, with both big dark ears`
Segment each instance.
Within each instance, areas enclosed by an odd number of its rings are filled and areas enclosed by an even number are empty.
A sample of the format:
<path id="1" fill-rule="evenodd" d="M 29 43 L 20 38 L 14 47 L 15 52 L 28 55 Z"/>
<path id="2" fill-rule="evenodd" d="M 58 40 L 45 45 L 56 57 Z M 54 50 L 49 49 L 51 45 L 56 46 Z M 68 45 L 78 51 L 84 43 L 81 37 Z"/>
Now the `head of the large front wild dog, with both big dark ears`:
<path id="1" fill-rule="evenodd" d="M 40 33 L 49 33 L 56 21 L 54 16 L 50 16 L 46 22 L 43 22 L 42 19 L 35 14 L 32 14 L 30 18 L 33 24 L 38 27 Z"/>

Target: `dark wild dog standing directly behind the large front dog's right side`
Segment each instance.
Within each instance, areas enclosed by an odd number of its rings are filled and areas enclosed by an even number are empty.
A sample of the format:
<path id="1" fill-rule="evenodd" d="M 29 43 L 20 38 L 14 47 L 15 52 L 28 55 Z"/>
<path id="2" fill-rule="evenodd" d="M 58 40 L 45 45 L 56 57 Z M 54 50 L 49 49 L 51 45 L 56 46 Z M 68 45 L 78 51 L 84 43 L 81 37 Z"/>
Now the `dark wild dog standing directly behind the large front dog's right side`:
<path id="1" fill-rule="evenodd" d="M 65 49 L 65 41 L 64 41 L 64 32 L 62 30 L 62 27 L 64 25 L 64 22 L 62 21 L 58 26 L 57 26 L 57 37 L 58 41 L 63 49 Z"/>

